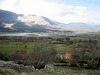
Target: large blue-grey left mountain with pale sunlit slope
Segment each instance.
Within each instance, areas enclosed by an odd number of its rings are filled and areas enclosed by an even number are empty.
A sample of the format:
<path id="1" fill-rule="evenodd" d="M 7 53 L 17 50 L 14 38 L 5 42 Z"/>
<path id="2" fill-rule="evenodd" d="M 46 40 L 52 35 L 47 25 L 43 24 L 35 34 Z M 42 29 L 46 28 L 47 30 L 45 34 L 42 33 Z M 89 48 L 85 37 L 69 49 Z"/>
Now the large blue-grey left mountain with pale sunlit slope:
<path id="1" fill-rule="evenodd" d="M 59 29 L 59 26 L 46 17 L 0 10 L 0 32 L 34 32 L 56 29 Z"/>

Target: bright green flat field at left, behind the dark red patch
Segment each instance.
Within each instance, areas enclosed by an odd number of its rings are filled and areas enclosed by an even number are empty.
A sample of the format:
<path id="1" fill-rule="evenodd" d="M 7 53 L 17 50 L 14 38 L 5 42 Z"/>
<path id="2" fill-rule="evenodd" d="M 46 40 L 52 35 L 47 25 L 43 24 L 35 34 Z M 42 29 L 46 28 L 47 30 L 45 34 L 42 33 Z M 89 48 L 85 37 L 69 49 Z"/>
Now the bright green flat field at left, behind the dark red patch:
<path id="1" fill-rule="evenodd" d="M 2 52 L 15 52 L 16 50 L 28 50 L 31 51 L 36 42 L 9 42 L 9 41 L 0 41 L 0 51 Z M 48 44 L 49 46 L 55 46 L 53 44 Z"/>

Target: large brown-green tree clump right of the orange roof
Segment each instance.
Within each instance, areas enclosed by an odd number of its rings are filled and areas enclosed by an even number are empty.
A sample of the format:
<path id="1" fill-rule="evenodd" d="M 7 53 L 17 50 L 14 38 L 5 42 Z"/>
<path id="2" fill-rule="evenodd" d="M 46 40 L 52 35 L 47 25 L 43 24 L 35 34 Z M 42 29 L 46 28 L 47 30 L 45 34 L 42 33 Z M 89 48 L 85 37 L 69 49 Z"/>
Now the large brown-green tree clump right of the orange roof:
<path id="1" fill-rule="evenodd" d="M 80 63 L 81 67 L 84 67 L 84 63 L 88 64 L 88 61 L 93 59 L 92 64 L 100 65 L 100 47 L 95 41 L 89 40 L 89 42 L 80 42 L 70 46 L 70 50 L 68 51 L 74 59 Z M 97 62 L 98 61 L 98 62 Z M 93 67 L 93 66 L 91 66 Z"/>

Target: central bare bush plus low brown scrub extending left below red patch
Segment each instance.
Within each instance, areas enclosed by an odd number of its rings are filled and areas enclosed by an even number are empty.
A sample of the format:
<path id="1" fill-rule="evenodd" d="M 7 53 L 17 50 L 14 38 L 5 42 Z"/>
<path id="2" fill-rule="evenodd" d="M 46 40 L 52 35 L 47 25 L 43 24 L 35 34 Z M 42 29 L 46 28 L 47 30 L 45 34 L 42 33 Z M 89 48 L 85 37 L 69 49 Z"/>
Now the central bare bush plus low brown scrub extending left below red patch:
<path id="1" fill-rule="evenodd" d="M 8 55 L 9 60 L 23 65 L 34 65 L 36 69 L 44 68 L 46 64 L 52 63 L 55 56 L 56 49 L 44 44 L 36 44 L 32 51 L 27 54 L 11 53 Z"/>

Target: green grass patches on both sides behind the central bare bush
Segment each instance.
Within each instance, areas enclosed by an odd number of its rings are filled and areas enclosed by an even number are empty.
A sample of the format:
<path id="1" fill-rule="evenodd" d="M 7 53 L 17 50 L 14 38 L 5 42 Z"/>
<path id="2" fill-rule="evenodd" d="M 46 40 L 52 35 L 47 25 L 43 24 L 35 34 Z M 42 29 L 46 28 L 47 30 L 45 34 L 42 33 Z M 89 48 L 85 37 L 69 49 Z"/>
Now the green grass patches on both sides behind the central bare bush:
<path id="1" fill-rule="evenodd" d="M 28 50 L 31 51 L 36 42 L 9 42 L 9 41 L 1 41 L 0 40 L 0 51 L 1 52 L 15 52 L 16 50 Z M 44 44 L 44 43 L 43 43 Z M 47 47 L 55 46 L 57 48 L 58 53 L 65 54 L 67 46 L 65 44 L 47 44 Z"/>

